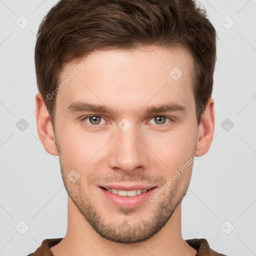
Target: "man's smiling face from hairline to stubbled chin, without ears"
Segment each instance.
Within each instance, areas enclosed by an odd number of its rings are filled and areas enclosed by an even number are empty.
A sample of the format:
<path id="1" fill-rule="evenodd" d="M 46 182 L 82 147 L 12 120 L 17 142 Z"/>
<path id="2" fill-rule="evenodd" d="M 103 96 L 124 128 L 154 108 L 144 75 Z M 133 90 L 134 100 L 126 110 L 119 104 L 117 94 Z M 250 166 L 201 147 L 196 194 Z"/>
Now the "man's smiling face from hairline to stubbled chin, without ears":
<path id="1" fill-rule="evenodd" d="M 99 50 L 82 66 L 85 57 L 65 65 L 61 81 L 75 74 L 56 95 L 63 182 L 99 235 L 142 241 L 167 223 L 189 185 L 198 130 L 191 56 L 155 46 Z"/>

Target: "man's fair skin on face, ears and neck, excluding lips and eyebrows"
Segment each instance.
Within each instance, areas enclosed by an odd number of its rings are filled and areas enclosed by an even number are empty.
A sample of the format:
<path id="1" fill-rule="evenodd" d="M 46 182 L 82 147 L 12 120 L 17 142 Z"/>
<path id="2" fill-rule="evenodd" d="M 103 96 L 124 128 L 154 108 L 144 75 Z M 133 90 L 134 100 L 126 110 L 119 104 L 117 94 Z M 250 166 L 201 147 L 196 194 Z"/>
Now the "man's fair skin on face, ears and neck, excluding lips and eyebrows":
<path id="1" fill-rule="evenodd" d="M 60 80 L 82 59 L 67 63 Z M 183 72 L 176 81 L 169 75 L 175 66 Z M 48 153 L 59 155 L 68 193 L 67 232 L 50 248 L 54 256 L 196 254 L 181 235 L 181 201 L 193 164 L 155 201 L 134 208 L 112 204 L 97 186 L 150 182 L 161 188 L 189 157 L 209 150 L 214 102 L 209 98 L 197 125 L 191 68 L 191 55 L 181 47 L 99 50 L 57 93 L 54 132 L 42 95 L 36 94 L 38 135 Z M 105 104 L 116 113 L 66 109 L 78 100 Z M 167 102 L 182 104 L 186 112 L 142 111 Z M 91 118 L 82 120 L 89 114 L 101 116 L 97 126 Z M 131 124 L 125 132 L 118 126 L 123 118 Z M 67 178 L 72 169 L 80 175 L 74 183 Z"/>

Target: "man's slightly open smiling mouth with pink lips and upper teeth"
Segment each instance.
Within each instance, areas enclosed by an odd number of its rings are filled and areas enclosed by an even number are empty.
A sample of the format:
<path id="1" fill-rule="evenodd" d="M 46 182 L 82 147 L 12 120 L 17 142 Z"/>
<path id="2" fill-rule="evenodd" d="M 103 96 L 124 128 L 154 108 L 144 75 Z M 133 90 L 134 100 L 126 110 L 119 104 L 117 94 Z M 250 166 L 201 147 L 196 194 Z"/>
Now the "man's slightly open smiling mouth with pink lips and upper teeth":
<path id="1" fill-rule="evenodd" d="M 149 196 L 155 193 L 157 186 L 136 189 L 117 189 L 111 187 L 98 186 L 100 193 L 108 202 L 118 207 L 133 208 L 148 201 Z"/>

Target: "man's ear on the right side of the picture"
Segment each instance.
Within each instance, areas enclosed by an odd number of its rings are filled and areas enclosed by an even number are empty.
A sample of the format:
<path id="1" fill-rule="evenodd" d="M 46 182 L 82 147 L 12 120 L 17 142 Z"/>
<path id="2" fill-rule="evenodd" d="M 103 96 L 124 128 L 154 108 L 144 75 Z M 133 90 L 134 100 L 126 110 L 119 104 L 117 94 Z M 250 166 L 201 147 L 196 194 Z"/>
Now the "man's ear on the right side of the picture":
<path id="1" fill-rule="evenodd" d="M 199 151 L 198 156 L 205 154 L 211 145 L 214 133 L 215 114 L 214 114 L 214 101 L 209 98 L 201 115 L 201 121 L 198 126 L 196 149 Z M 195 153 L 196 154 L 196 153 Z"/>

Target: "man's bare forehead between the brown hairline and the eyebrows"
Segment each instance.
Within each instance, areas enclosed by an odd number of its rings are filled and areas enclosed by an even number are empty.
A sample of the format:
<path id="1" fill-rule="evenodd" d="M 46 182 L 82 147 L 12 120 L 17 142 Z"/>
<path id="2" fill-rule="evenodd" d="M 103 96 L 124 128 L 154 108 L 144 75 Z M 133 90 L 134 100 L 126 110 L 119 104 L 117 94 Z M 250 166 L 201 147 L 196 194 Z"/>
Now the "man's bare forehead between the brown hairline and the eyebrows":
<path id="1" fill-rule="evenodd" d="M 191 71 L 191 55 L 181 47 L 99 49 L 66 63 L 60 76 L 60 83 L 66 83 L 57 93 L 57 104 L 66 108 L 86 99 L 134 111 L 147 102 L 189 106 L 193 102 Z"/>

